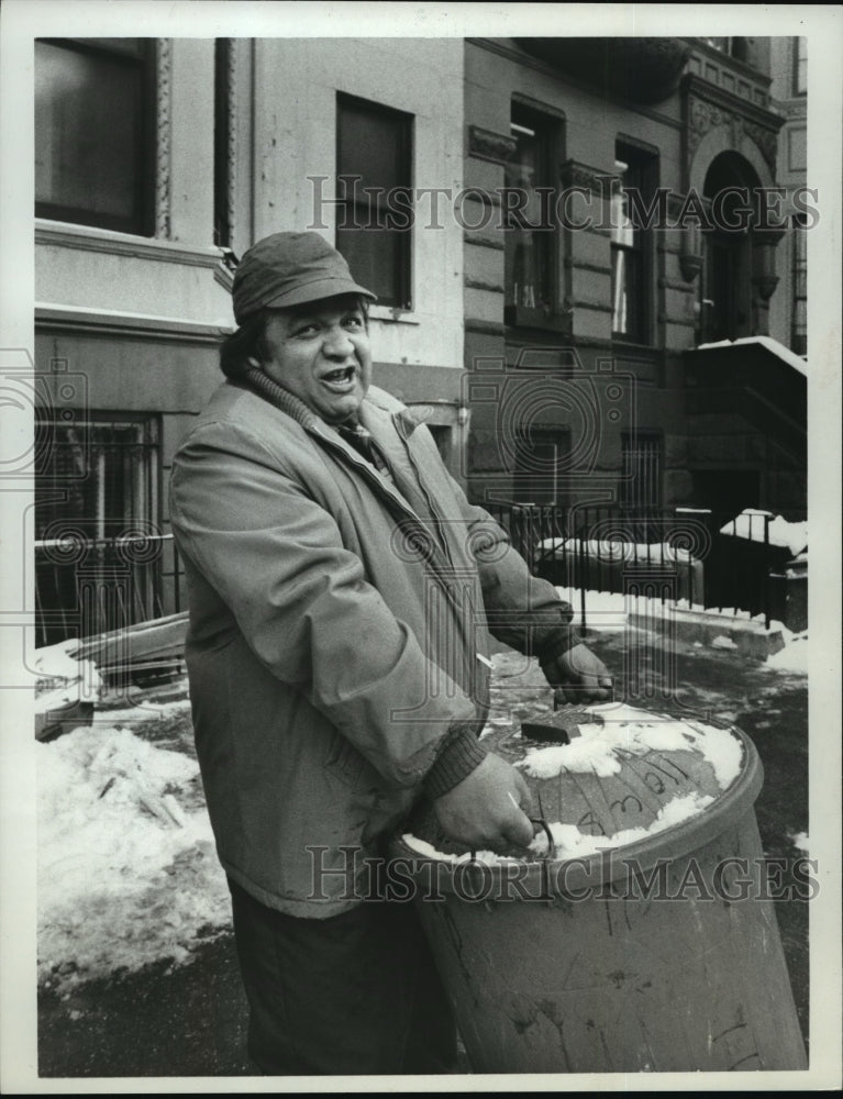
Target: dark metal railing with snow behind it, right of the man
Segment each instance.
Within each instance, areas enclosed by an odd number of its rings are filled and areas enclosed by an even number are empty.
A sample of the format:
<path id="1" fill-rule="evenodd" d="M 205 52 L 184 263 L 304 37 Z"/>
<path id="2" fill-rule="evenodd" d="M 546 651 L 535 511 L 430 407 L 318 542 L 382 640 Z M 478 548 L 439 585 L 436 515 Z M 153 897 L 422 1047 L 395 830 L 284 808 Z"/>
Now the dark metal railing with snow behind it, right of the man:
<path id="1" fill-rule="evenodd" d="M 770 569 L 791 556 L 769 540 L 772 515 L 707 509 L 499 502 L 487 510 L 531 571 L 580 590 L 687 600 L 706 610 L 772 617 Z"/>

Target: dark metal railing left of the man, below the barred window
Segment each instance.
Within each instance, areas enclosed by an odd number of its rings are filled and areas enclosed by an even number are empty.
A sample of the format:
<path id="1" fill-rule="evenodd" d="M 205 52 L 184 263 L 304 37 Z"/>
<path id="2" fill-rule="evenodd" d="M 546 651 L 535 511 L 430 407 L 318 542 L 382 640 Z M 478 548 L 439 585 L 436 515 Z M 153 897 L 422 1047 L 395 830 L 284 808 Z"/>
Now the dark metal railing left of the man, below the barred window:
<path id="1" fill-rule="evenodd" d="M 91 637 L 182 609 L 171 534 L 66 533 L 34 544 L 35 644 Z"/>

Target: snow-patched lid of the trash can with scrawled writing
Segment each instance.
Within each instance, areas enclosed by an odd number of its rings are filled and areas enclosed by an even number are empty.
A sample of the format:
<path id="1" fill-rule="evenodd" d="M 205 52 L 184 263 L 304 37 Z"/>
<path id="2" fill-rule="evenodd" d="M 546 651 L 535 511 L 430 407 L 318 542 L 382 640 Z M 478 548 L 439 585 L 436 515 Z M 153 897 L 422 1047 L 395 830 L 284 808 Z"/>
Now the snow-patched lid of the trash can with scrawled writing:
<path id="1" fill-rule="evenodd" d="M 558 859 L 647 840 L 706 813 L 735 786 L 747 747 L 737 730 L 710 719 L 613 702 L 563 708 L 493 744 L 526 779 L 533 814 L 546 823 Z M 546 857 L 547 830 L 526 852 L 512 848 L 503 857 Z M 450 862 L 501 857 L 454 843 L 431 811 L 411 822 L 403 840 L 419 855 Z"/>

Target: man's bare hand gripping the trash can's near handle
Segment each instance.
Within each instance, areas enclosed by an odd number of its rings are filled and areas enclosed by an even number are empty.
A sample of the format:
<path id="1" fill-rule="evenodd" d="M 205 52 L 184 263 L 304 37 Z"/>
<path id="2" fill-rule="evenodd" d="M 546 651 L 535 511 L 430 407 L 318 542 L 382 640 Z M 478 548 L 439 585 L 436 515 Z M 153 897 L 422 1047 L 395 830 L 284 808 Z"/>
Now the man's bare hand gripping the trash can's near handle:
<path id="1" fill-rule="evenodd" d="M 436 798 L 433 811 L 447 835 L 474 848 L 526 847 L 533 839 L 528 817 L 531 796 L 524 776 L 492 753 L 462 782 Z"/>

